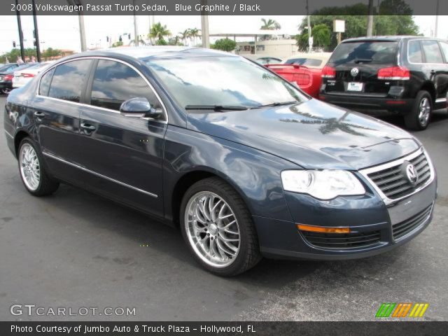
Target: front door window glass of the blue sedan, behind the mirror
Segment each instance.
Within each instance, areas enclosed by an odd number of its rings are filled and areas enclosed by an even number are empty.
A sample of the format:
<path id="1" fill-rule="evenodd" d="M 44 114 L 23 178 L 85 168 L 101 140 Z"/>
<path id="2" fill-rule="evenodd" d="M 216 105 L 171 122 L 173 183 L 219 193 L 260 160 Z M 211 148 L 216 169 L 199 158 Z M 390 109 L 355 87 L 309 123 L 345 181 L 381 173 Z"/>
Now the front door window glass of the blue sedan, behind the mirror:
<path id="1" fill-rule="evenodd" d="M 134 97 L 146 97 L 153 108 L 161 107 L 151 87 L 134 69 L 120 62 L 100 59 L 94 74 L 90 104 L 120 111 L 120 105 Z"/>

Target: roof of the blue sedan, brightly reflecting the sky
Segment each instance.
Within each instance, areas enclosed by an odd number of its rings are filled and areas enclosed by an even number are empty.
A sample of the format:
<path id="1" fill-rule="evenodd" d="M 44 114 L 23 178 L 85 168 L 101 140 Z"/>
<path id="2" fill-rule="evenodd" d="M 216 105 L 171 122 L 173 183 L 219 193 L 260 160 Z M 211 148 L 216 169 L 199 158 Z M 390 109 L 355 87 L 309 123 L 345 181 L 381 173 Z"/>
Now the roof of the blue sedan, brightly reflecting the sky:
<path id="1" fill-rule="evenodd" d="M 206 57 L 206 56 L 235 56 L 230 52 L 211 50 L 205 48 L 182 47 L 174 45 L 151 45 L 144 47 L 119 47 L 90 52 L 82 52 L 73 55 L 73 57 L 88 56 L 128 56 L 137 59 L 158 59 L 158 58 L 177 58 L 177 57 Z M 71 58 L 71 57 L 70 57 Z"/>

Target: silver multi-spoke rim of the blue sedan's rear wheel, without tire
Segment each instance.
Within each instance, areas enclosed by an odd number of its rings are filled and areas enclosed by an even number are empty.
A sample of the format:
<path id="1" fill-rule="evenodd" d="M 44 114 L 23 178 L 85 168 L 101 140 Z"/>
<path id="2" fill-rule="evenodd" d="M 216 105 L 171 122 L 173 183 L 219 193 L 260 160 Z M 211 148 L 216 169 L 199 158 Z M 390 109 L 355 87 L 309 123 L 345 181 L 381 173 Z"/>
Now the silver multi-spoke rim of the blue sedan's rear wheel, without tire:
<path id="1" fill-rule="evenodd" d="M 19 165 L 25 185 L 29 190 L 36 191 L 41 181 L 41 166 L 36 151 L 30 144 L 24 144 L 20 148 Z"/>

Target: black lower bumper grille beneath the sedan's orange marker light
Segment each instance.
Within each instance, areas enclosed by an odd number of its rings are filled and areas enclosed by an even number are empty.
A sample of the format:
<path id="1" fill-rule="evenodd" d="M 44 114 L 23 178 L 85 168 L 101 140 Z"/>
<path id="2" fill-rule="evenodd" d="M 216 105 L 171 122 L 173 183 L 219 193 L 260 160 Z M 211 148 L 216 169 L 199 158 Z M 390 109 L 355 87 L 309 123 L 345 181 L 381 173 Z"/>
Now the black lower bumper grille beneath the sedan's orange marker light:
<path id="1" fill-rule="evenodd" d="M 321 233 L 301 231 L 309 244 L 330 248 L 333 250 L 349 250 L 372 246 L 379 243 L 381 235 L 379 231 L 359 232 L 359 233 Z"/>

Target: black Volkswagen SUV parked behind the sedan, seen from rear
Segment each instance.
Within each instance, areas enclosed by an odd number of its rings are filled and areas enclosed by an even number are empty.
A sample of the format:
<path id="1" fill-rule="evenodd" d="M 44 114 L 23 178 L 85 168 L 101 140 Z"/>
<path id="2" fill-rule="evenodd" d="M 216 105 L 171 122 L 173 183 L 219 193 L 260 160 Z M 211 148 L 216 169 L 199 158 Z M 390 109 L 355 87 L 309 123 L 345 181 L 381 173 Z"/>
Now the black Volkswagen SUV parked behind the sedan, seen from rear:
<path id="1" fill-rule="evenodd" d="M 448 43 L 421 36 L 349 38 L 322 71 L 324 102 L 358 111 L 401 113 L 424 130 L 433 109 L 447 103 Z"/>

